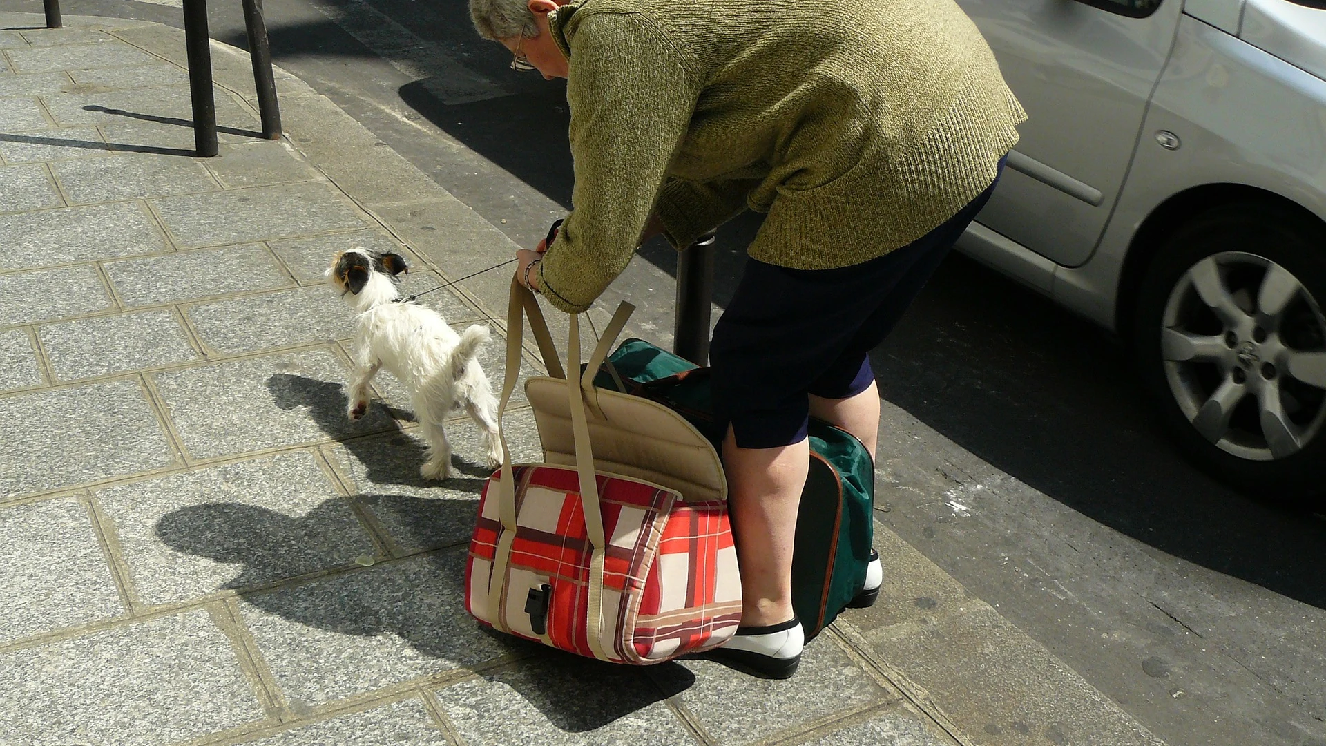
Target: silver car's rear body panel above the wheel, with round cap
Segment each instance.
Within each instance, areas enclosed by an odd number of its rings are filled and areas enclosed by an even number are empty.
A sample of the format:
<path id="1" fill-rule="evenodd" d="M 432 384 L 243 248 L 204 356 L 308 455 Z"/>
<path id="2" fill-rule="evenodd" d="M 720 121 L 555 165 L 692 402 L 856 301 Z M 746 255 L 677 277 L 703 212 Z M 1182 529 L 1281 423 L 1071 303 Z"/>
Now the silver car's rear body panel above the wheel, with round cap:
<path id="1" fill-rule="evenodd" d="M 1159 130 L 1181 146 L 1162 147 Z M 1181 19 L 1143 133 L 1099 248 L 1082 267 L 1054 271 L 1054 299 L 1105 327 L 1116 324 L 1134 236 L 1174 195 L 1244 185 L 1326 219 L 1326 81 L 1212 25 Z"/>

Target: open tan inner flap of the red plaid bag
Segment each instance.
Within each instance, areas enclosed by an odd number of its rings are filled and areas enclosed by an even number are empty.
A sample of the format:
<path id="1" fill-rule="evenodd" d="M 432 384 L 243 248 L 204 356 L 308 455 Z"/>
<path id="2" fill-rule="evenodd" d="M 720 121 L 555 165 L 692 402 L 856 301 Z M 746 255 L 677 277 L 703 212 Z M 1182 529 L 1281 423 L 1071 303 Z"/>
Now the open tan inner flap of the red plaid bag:
<path id="1" fill-rule="evenodd" d="M 713 446 L 671 409 L 642 397 L 598 389 L 598 411 L 589 417 L 594 469 L 655 482 L 687 500 L 725 500 L 728 483 Z M 566 381 L 525 382 L 538 439 L 549 463 L 575 463 Z"/>

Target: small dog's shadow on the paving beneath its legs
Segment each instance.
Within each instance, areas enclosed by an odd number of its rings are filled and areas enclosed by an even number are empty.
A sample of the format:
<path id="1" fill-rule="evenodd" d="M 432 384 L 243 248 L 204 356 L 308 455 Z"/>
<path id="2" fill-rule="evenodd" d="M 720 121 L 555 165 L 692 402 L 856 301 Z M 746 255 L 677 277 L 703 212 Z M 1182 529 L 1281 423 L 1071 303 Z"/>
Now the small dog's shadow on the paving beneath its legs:
<path id="1" fill-rule="evenodd" d="M 452 443 L 452 475 L 446 482 L 424 479 L 419 467 L 424 462 L 424 443 L 400 429 L 400 422 L 414 422 L 412 413 L 374 398 L 367 414 L 358 422 L 346 417 L 345 390 L 339 382 L 318 381 L 296 373 L 274 373 L 267 381 L 276 406 L 284 410 L 304 409 L 329 437 L 341 442 L 366 470 L 365 478 L 375 486 L 439 487 L 473 492 L 483 488 L 492 473 L 479 459 L 483 447 L 471 422 L 447 426 Z M 378 435 L 369 438 L 365 435 Z"/>

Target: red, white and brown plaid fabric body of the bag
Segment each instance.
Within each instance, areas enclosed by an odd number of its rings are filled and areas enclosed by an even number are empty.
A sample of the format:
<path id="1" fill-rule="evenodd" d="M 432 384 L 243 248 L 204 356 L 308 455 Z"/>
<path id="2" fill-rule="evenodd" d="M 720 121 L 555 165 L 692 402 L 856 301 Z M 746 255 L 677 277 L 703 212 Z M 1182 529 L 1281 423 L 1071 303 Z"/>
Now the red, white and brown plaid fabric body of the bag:
<path id="1" fill-rule="evenodd" d="M 516 538 L 507 593 L 491 599 L 501 520 L 493 474 L 479 500 L 469 542 L 465 608 L 484 624 L 501 615 L 514 634 L 593 657 L 587 636 L 589 564 L 579 477 L 564 466 L 520 466 Z M 598 475 L 603 535 L 601 648 L 611 660 L 656 664 L 717 648 L 741 620 L 736 548 L 723 502 L 686 502 L 627 477 Z M 489 499 L 492 495 L 492 499 Z M 530 588 L 552 587 L 546 634 L 525 613 Z"/>

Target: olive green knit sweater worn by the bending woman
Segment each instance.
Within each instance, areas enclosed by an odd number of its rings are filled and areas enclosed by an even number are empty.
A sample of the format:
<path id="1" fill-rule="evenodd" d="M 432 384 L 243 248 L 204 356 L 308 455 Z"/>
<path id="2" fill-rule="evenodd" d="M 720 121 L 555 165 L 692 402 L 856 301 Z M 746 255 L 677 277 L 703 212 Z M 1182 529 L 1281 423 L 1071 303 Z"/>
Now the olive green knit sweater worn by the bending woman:
<path id="1" fill-rule="evenodd" d="M 989 186 L 1026 118 L 953 0 L 575 0 L 550 28 L 575 187 L 538 272 L 566 312 L 651 210 L 679 248 L 749 207 L 760 261 L 882 256 Z"/>

